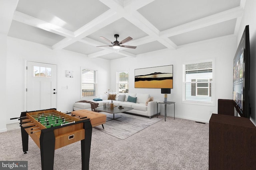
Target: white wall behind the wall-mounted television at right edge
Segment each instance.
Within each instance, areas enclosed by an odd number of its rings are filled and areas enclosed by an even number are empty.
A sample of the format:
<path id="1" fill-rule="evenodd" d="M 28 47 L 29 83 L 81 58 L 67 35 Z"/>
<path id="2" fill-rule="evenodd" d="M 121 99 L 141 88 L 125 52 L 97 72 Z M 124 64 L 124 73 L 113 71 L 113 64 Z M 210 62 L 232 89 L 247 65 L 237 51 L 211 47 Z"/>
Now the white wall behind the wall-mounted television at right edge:
<path id="1" fill-rule="evenodd" d="M 241 19 L 236 43 L 240 42 L 246 25 L 249 25 L 250 32 L 250 106 L 252 108 L 251 121 L 256 125 L 256 1 L 246 0 L 244 14 Z"/>

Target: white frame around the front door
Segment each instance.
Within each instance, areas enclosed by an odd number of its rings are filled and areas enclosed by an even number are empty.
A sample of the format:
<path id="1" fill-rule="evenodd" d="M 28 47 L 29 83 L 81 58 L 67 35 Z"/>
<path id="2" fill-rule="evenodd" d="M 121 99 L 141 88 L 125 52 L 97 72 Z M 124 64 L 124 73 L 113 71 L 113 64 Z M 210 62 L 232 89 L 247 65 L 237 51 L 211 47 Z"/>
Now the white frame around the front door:
<path id="1" fill-rule="evenodd" d="M 35 62 L 35 63 L 44 63 L 44 64 L 54 64 L 56 65 L 56 107 L 58 108 L 58 64 L 56 63 L 47 63 L 47 62 L 43 62 L 43 61 L 33 61 L 33 60 L 24 60 L 24 111 L 27 111 L 27 74 L 28 74 L 28 70 L 27 70 L 27 63 L 29 62 Z M 57 109 L 56 108 L 56 109 Z"/>

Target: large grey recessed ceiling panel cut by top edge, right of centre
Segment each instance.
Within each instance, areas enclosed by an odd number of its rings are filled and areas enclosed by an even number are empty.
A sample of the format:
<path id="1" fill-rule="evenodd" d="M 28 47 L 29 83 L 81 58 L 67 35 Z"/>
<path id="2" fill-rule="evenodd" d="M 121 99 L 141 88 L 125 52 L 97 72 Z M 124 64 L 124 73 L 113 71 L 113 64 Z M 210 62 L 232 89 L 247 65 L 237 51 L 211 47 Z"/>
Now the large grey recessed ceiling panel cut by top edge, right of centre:
<path id="1" fill-rule="evenodd" d="M 240 0 L 155 0 L 140 8 L 160 31 L 240 6 Z"/>

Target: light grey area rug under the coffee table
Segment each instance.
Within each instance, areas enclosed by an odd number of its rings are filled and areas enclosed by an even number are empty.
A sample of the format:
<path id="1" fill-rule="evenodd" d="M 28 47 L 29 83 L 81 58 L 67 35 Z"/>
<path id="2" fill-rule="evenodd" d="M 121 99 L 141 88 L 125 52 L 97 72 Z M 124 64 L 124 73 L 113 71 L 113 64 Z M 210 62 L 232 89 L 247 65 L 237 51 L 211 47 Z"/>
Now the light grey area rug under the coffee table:
<path id="1" fill-rule="evenodd" d="M 107 115 L 107 117 L 112 117 L 111 113 L 106 112 L 100 112 Z M 154 123 L 162 120 L 156 117 L 149 118 L 139 115 L 131 115 L 128 113 L 118 113 L 115 114 L 115 117 L 119 117 L 118 120 L 110 120 L 110 118 L 107 118 L 106 124 L 104 124 L 104 129 L 102 129 L 102 126 L 95 127 L 99 131 L 102 131 L 104 133 L 107 133 L 108 135 L 112 135 L 118 139 L 126 139 L 135 133 L 145 129 L 146 127 L 149 127 L 153 125 Z"/>

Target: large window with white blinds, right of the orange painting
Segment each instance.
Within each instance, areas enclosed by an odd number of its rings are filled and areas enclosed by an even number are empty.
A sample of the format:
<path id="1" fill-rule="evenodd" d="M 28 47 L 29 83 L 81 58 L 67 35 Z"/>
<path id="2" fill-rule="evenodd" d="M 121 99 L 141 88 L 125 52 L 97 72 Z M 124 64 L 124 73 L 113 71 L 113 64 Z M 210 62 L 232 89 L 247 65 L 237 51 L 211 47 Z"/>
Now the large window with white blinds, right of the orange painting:
<path id="1" fill-rule="evenodd" d="M 212 104 L 212 61 L 183 65 L 183 102 Z"/>

